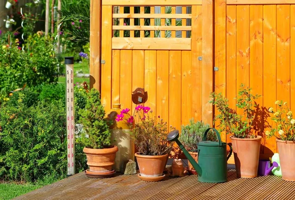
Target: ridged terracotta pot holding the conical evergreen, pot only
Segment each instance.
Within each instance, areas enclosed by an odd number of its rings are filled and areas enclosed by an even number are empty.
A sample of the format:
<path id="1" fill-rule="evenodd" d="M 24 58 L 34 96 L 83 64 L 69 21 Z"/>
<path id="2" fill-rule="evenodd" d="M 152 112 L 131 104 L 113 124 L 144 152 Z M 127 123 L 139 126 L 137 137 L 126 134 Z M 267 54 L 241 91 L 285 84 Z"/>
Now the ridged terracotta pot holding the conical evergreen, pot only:
<path id="1" fill-rule="evenodd" d="M 112 167 L 115 164 L 117 151 L 117 146 L 102 149 L 92 149 L 85 147 L 83 152 L 86 153 L 87 156 L 87 165 L 89 166 L 89 171 L 112 171 Z"/>

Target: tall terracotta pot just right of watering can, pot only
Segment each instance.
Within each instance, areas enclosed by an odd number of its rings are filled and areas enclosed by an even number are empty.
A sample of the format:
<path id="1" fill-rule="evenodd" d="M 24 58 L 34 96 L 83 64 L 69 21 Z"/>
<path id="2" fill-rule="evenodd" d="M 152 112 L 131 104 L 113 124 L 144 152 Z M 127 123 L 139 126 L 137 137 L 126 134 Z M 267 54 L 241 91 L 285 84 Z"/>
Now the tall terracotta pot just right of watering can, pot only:
<path id="1" fill-rule="evenodd" d="M 231 137 L 236 165 L 236 176 L 241 178 L 257 177 L 261 136 L 252 139 Z"/>

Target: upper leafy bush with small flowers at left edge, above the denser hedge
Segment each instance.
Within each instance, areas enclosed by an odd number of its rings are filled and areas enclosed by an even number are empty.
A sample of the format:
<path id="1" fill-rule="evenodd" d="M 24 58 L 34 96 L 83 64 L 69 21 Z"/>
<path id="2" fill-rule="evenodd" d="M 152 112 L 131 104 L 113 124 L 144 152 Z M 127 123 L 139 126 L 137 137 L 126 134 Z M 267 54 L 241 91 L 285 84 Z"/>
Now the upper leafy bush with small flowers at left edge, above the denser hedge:
<path id="1" fill-rule="evenodd" d="M 11 45 L 8 44 L 8 35 Z M 0 35 L 0 104 L 8 94 L 25 84 L 29 87 L 56 83 L 58 60 L 54 57 L 54 41 L 42 32 L 29 36 L 20 47 L 20 41 L 10 32 Z"/>

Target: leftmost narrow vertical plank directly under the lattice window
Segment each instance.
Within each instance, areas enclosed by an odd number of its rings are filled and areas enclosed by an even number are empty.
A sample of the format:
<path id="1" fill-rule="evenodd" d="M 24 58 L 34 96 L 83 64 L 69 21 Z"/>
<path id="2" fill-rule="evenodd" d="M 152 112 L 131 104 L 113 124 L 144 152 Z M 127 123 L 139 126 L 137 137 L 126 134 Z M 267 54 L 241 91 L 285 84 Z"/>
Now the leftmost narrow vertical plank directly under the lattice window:
<path id="1" fill-rule="evenodd" d="M 112 105 L 120 103 L 120 50 L 113 50 Z"/>

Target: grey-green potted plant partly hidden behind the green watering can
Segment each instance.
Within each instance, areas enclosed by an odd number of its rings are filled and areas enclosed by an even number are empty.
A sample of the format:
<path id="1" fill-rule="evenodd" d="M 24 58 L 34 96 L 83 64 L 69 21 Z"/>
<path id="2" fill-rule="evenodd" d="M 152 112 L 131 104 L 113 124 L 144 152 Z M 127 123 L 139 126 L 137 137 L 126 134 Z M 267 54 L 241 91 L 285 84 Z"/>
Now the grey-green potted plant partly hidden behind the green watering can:
<path id="1" fill-rule="evenodd" d="M 209 124 L 202 121 L 194 122 L 194 118 L 189 120 L 188 125 L 181 126 L 181 134 L 178 138 L 180 143 L 183 144 L 189 154 L 198 162 L 198 143 L 202 141 L 205 131 L 210 128 Z M 209 132 L 207 135 L 209 141 L 216 141 L 216 134 Z M 192 174 L 197 174 L 191 163 L 188 161 L 188 169 Z"/>

